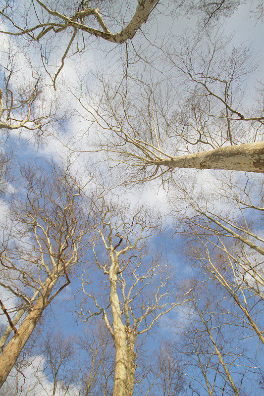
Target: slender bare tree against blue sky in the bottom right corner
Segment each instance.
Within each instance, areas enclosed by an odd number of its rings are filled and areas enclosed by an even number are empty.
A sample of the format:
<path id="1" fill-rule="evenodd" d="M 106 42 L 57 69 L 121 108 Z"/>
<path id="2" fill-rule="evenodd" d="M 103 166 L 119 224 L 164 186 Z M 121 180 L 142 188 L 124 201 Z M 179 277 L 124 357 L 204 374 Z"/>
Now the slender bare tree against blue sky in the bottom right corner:
<path id="1" fill-rule="evenodd" d="M 248 380 L 259 375 L 259 368 L 247 351 L 250 343 L 240 342 L 236 322 L 221 301 L 223 296 L 216 293 L 210 283 L 197 285 L 169 348 L 174 359 L 182 360 L 188 392 L 244 395 Z"/>

